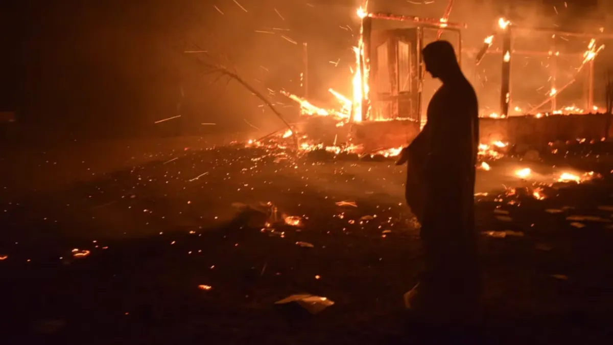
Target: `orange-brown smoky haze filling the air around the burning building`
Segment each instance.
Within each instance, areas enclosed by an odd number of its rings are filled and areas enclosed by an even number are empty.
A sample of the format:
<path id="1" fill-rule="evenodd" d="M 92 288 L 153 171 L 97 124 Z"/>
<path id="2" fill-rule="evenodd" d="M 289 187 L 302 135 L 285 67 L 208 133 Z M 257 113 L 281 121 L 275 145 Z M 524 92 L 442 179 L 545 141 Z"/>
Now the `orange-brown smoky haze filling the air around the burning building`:
<path id="1" fill-rule="evenodd" d="M 356 9 L 361 1 L 4 2 L 2 42 L 10 49 L 2 56 L 0 107 L 16 110 L 20 125 L 48 138 L 246 131 L 251 130 L 248 123 L 264 131 L 281 128 L 275 115 L 245 88 L 203 76 L 196 59 L 231 66 L 292 120 L 297 106 L 278 91 L 302 95 L 303 42 L 308 44 L 309 99 L 333 107 L 337 103 L 328 88 L 351 93 L 351 47 L 357 44 Z M 371 0 L 368 9 L 440 18 L 446 6 L 443 0 Z M 607 32 L 611 26 L 606 6 L 596 1 L 458 0 L 449 20 L 466 23 L 463 46 L 478 49 L 502 15 L 522 26 L 592 33 L 603 26 Z M 547 37 L 526 35 L 518 42 L 528 41 L 529 46 L 534 36 L 533 48 L 549 49 L 543 43 Z M 578 39 L 568 47 L 560 43 L 559 50 L 581 53 L 588 42 Z M 499 44 L 495 40 L 492 49 Z M 208 55 L 185 50 L 206 50 Z M 609 68 L 604 63 L 610 60 L 609 50 L 602 54 L 597 76 Z M 485 109 L 497 110 L 501 58 L 487 55 L 476 68 L 474 55 L 463 55 L 463 69 Z M 529 98 L 525 103 L 539 103 L 549 88 L 543 67 L 547 61 L 520 59 L 513 61 L 512 92 Z M 579 58 L 569 59 L 564 67 L 560 63 L 558 82 L 572 78 L 570 71 L 580 64 Z M 583 90 L 577 85 L 577 90 L 568 90 L 569 104 L 581 101 Z M 538 88 L 543 95 L 535 96 Z M 597 102 L 598 96 L 597 87 Z M 175 115 L 181 117 L 154 124 Z M 217 125 L 212 129 L 201 123 Z"/>

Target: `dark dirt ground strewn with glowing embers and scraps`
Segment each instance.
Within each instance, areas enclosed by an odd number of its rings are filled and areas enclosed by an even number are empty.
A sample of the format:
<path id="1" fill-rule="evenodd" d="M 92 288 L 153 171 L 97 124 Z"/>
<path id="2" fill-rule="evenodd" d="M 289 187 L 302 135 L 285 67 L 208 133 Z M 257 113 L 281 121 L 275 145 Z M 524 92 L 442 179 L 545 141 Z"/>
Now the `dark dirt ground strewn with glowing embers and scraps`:
<path id="1" fill-rule="evenodd" d="M 481 237 L 484 324 L 455 333 L 417 326 L 403 312 L 421 246 L 393 160 L 294 161 L 189 140 L 4 156 L 15 167 L 2 171 L 0 198 L 4 339 L 602 344 L 611 336 L 613 150 L 604 144 L 479 171 L 478 230 L 514 232 Z M 531 176 L 517 178 L 525 167 Z M 602 177 L 554 183 L 562 171 Z M 301 225 L 245 211 L 270 211 L 268 202 Z M 274 304 L 296 293 L 335 304 L 316 315 Z"/>

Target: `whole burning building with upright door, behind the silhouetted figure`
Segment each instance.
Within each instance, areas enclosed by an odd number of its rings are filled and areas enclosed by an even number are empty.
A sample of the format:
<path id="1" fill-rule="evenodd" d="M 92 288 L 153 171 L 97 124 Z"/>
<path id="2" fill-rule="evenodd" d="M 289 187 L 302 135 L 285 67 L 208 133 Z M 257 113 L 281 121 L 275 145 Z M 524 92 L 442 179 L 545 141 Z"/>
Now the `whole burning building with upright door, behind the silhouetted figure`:
<path id="1" fill-rule="evenodd" d="M 454 45 L 478 93 L 482 142 L 541 144 L 608 136 L 611 109 L 595 104 L 594 84 L 595 60 L 612 34 L 603 27 L 565 31 L 498 17 L 489 31 L 482 31 L 481 41 L 471 42 L 463 37 L 468 25 L 449 20 L 453 4 L 447 3 L 440 18 L 380 12 L 368 3 L 357 9 L 360 34 L 351 96 L 330 89 L 340 107 L 322 109 L 286 94 L 300 104 L 302 114 L 311 115 L 303 130 L 324 141 L 348 138 L 366 150 L 410 142 L 427 120 L 425 108 L 440 85 L 426 75 L 421 50 L 444 39 Z M 545 71 L 535 77 L 545 85 L 526 91 L 527 73 L 535 74 L 527 72 L 530 64 Z M 494 76 L 494 83 L 488 76 Z M 577 87 L 580 99 L 559 101 L 573 88 L 576 95 Z"/>

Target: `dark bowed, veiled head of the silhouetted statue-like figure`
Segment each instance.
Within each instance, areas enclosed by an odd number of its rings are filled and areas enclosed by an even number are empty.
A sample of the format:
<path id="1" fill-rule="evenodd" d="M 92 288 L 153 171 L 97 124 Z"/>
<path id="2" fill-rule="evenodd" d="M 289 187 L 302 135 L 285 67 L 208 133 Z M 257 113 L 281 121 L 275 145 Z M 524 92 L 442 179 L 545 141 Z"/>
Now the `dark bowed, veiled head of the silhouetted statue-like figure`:
<path id="1" fill-rule="evenodd" d="M 455 57 L 454 47 L 447 41 L 435 41 L 422 50 L 425 70 L 432 77 L 444 81 L 454 79 L 462 74 L 460 65 Z"/>

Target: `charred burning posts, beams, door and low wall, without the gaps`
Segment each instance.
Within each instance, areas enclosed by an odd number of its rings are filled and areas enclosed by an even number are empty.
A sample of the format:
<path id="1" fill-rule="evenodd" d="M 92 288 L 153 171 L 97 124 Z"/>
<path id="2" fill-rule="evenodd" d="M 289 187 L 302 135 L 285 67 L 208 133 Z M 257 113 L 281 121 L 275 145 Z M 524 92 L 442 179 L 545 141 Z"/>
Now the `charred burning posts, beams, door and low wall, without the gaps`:
<path id="1" fill-rule="evenodd" d="M 607 138 L 611 107 L 600 109 L 594 105 L 594 60 L 603 50 L 601 40 L 613 35 L 600 33 L 571 33 L 549 28 L 525 28 L 500 18 L 495 32 L 485 37 L 483 47 L 462 47 L 462 29 L 466 25 L 451 23 L 449 13 L 440 19 L 421 18 L 395 14 L 369 13 L 360 7 L 360 38 L 353 71 L 351 98 L 330 89 L 341 104 L 340 109 L 322 109 L 307 99 L 286 93 L 308 115 L 300 131 L 322 142 L 334 142 L 348 138 L 352 146 L 359 145 L 365 151 L 392 149 L 410 142 L 421 130 L 425 121 L 425 107 L 438 81 L 425 77 L 422 48 L 430 42 L 445 39 L 454 45 L 462 64 L 479 65 L 486 55 L 501 55 L 500 109 L 481 114 L 481 142 L 512 142 L 538 145 L 552 141 L 568 141 L 576 138 L 588 140 Z M 517 33 L 549 34 L 552 37 L 588 37 L 587 50 L 560 52 L 556 47 L 547 51 L 516 48 Z M 601 30 L 603 31 L 603 30 Z M 501 48 L 492 49 L 495 40 Z M 473 61 L 462 61 L 468 55 Z M 550 90 L 541 104 L 528 104 L 525 111 L 519 107 L 510 109 L 512 101 L 512 61 L 519 56 L 547 56 L 552 63 Z M 558 56 L 578 56 L 581 66 L 565 85 L 556 85 Z M 466 58 L 464 59 L 466 60 Z M 573 85 L 580 73 L 587 73 L 587 88 L 582 107 L 566 106 L 558 109 L 557 96 Z M 304 83 L 306 85 L 306 81 Z M 479 93 L 478 93 L 479 96 Z M 608 101 L 607 101 L 608 103 Z M 544 106 L 551 104 L 550 109 Z M 584 110 L 587 109 L 587 110 Z M 514 113 L 514 114 L 512 114 Z"/>

